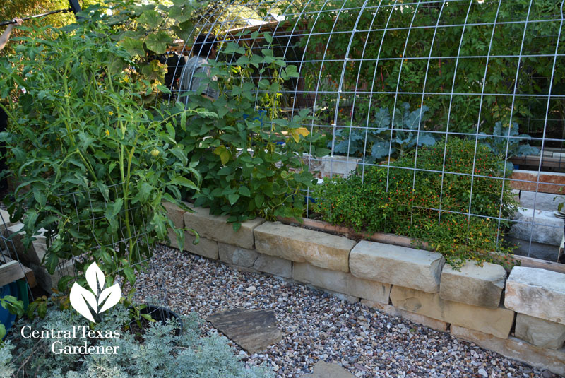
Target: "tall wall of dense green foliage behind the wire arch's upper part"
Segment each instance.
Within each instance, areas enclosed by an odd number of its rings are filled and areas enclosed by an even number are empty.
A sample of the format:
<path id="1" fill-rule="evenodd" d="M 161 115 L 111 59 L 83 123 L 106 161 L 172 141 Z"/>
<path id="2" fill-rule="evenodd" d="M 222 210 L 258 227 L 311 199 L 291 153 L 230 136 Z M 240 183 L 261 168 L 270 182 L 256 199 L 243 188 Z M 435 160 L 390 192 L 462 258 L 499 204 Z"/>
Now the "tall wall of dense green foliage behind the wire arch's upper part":
<path id="1" fill-rule="evenodd" d="M 317 96 L 316 105 L 320 109 L 317 115 L 322 124 L 337 121 L 338 126 L 376 127 L 374 119 L 378 118 L 379 108 L 392 110 L 394 105 L 407 102 L 412 109 L 420 105 L 429 108 L 427 122 L 420 126 L 422 131 L 492 134 L 496 122 L 509 124 L 512 117 L 520 125 L 520 134 L 541 136 L 547 98 L 529 95 L 548 93 L 554 64 L 551 55 L 556 52 L 557 43 L 557 53 L 565 51 L 565 33 L 557 41 L 559 1 L 531 2 L 528 19 L 540 22 L 528 23 L 523 54 L 549 54 L 549 57 L 521 59 L 516 93 L 522 96 L 516 98 L 511 94 L 525 25 L 516 21 L 526 20 L 530 0 L 446 1 L 443 8 L 437 1 L 422 1 L 417 5 L 402 5 L 400 1 L 394 7 L 395 1 L 385 0 L 371 2 L 367 4 L 371 8 L 366 9 L 362 9 L 363 4 L 362 0 L 345 3 L 314 0 L 307 4 L 298 2 L 289 11 L 303 13 L 301 18 L 295 16 L 290 20 L 285 30 L 288 32 L 299 23 L 298 29 L 304 32 L 295 33 L 306 34 L 297 40 L 306 49 L 308 60 L 301 64 L 300 72 L 305 79 L 304 90 L 311 91 L 311 100 Z M 339 11 L 342 6 L 347 10 Z M 440 12 L 440 28 L 434 39 Z M 557 21 L 543 22 L 554 19 Z M 494 35 L 492 25 L 482 25 L 492 22 L 497 23 Z M 468 25 L 463 28 L 465 23 Z M 354 29 L 359 31 L 352 35 Z M 488 64 L 487 54 L 491 56 Z M 428 61 L 430 55 L 432 59 Z M 378 66 L 376 58 L 379 58 Z M 562 66 L 558 59 L 553 93 L 563 93 L 565 88 Z M 481 103 L 485 68 L 485 95 Z M 342 88 L 338 88 L 340 81 Z M 339 95 L 339 89 L 379 93 L 357 94 L 354 98 L 350 93 Z M 436 94 L 422 96 L 422 90 Z M 315 95 L 316 91 L 320 93 Z M 397 91 L 402 93 L 396 95 Z M 462 94 L 451 97 L 451 93 Z M 340 102 L 336 105 L 338 97 Z M 545 137 L 557 133 L 556 137 L 561 138 L 565 102 L 552 100 L 547 114 L 550 122 Z M 524 119 L 528 119 L 528 125 Z"/>

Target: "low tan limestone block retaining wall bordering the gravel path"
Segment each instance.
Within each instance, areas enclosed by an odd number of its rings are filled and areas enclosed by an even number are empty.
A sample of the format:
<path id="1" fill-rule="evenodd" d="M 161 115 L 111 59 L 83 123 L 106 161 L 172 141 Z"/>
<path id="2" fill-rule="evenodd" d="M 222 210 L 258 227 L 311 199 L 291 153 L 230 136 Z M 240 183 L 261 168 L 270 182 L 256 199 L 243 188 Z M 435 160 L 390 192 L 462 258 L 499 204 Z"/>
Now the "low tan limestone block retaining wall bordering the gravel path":
<path id="1" fill-rule="evenodd" d="M 194 245 L 186 234 L 182 249 L 188 252 L 338 293 L 565 376 L 563 273 L 515 267 L 508 276 L 499 265 L 472 261 L 456 271 L 435 252 L 355 242 L 260 218 L 234 232 L 207 209 L 167 209 L 177 227 L 201 236 Z"/>

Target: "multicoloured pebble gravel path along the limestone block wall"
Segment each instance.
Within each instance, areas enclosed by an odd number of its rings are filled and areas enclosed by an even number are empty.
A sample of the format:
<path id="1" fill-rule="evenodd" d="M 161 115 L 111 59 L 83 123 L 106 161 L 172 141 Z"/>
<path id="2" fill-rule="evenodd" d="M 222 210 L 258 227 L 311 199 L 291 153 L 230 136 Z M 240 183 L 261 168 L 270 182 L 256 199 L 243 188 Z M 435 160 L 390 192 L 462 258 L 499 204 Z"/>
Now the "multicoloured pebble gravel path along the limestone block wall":
<path id="1" fill-rule="evenodd" d="M 231 345 L 247 362 L 266 362 L 281 378 L 311 373 L 319 360 L 339 362 L 356 377 L 557 377 L 306 285 L 169 247 L 158 247 L 156 255 L 152 266 L 165 277 L 168 306 L 176 312 L 206 318 L 234 307 L 273 309 L 282 341 L 253 355 Z M 155 290 L 152 274 L 138 279 L 141 297 Z M 203 332 L 216 331 L 205 323 Z"/>

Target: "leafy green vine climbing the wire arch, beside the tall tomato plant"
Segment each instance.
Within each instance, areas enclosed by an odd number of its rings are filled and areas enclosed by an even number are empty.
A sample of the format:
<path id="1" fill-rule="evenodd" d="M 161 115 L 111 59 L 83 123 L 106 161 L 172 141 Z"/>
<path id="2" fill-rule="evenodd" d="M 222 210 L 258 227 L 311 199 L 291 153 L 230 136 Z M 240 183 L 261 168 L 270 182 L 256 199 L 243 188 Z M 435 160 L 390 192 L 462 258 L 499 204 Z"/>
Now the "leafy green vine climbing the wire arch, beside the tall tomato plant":
<path id="1" fill-rule="evenodd" d="M 265 38 L 270 40 L 270 35 Z M 213 214 L 229 215 L 235 229 L 256 216 L 299 217 L 304 211 L 301 190 L 312 182 L 301 157 L 319 136 L 301 126 L 311 119 L 307 110 L 292 119 L 279 116 L 278 93 L 284 81 L 297 77 L 296 66 L 273 56 L 267 47 L 254 53 L 235 42 L 222 46 L 218 61 L 210 61 L 210 66 L 217 81 L 203 82 L 218 89 L 220 97 L 211 101 L 198 93 L 184 94 L 189 108 L 206 109 L 208 114 L 179 117 L 176 126 L 178 143 L 186 146 L 191 163 L 198 164 L 203 175 L 201 191 L 191 194 L 194 203 Z M 254 82 L 259 75 L 261 80 Z"/>

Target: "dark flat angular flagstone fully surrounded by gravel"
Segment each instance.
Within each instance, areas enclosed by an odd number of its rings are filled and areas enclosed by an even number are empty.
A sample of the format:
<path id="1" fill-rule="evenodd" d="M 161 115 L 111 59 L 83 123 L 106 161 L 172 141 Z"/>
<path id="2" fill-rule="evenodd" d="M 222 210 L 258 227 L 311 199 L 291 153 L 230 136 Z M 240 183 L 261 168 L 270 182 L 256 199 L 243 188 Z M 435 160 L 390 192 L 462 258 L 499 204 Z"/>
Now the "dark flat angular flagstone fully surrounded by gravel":
<path id="1" fill-rule="evenodd" d="M 283 339 L 273 311 L 231 309 L 212 314 L 206 320 L 249 353 L 261 352 Z"/>

